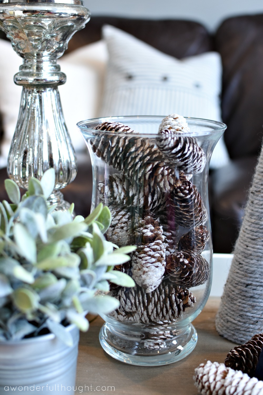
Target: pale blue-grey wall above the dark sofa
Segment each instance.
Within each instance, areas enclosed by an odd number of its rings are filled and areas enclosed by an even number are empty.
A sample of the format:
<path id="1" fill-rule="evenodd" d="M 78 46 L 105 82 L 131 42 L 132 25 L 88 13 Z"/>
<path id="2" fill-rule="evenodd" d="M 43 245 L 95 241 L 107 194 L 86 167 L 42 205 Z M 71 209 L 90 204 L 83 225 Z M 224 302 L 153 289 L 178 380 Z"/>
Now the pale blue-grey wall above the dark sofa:
<path id="1" fill-rule="evenodd" d="M 226 17 L 263 13 L 262 0 L 84 0 L 91 15 L 190 19 L 210 31 Z"/>

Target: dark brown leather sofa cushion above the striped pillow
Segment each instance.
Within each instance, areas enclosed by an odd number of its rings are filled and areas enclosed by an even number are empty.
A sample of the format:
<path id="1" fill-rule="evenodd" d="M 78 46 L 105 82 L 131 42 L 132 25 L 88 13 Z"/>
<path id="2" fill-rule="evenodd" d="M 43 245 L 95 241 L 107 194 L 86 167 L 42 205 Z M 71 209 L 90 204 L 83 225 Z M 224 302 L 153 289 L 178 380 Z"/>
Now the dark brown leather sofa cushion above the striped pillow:
<path id="1" fill-rule="evenodd" d="M 100 40 L 104 24 L 116 26 L 179 59 L 213 49 L 211 37 L 205 27 L 193 21 L 91 17 L 85 28 L 76 32 L 69 41 L 66 53 Z"/>

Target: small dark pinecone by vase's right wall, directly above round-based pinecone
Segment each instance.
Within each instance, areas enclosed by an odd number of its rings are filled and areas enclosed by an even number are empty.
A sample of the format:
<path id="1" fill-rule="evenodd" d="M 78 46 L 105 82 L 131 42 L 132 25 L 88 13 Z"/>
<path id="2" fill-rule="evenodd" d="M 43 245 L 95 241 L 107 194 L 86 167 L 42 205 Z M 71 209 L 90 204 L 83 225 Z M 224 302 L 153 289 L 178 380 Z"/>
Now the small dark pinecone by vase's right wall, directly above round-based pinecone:
<path id="1" fill-rule="evenodd" d="M 178 250 L 187 250 L 195 254 L 201 254 L 208 240 L 209 231 L 207 228 L 204 225 L 196 226 L 181 237 L 178 243 Z"/>

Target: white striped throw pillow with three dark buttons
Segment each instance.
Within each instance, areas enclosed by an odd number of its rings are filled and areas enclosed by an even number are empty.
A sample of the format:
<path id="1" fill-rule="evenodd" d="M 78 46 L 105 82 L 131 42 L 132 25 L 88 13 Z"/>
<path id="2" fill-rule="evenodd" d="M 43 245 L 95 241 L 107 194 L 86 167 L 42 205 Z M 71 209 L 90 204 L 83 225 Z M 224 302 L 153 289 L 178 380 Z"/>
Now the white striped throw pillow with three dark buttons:
<path id="1" fill-rule="evenodd" d="M 221 120 L 222 65 L 216 52 L 178 60 L 113 26 L 103 26 L 109 60 L 99 116 L 168 115 Z M 224 166 L 221 138 L 210 167 Z"/>

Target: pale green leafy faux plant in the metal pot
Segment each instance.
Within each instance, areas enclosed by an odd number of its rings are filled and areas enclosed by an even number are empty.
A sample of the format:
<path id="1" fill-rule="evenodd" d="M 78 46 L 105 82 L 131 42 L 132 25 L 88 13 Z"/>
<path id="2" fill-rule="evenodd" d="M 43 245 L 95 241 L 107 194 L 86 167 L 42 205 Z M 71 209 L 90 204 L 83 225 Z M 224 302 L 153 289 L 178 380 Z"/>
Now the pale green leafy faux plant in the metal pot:
<path id="1" fill-rule="evenodd" d="M 108 295 L 109 281 L 134 286 L 131 277 L 113 270 L 130 260 L 136 247 L 106 241 L 111 222 L 108 207 L 99 204 L 87 217 L 73 219 L 74 205 L 56 211 L 48 197 L 54 190 L 54 169 L 41 181 L 32 177 L 20 194 L 5 181 L 12 202 L 0 202 L 0 340 L 23 339 L 47 328 L 72 344 L 65 325 L 86 331 L 87 312 L 107 314 L 119 306 Z"/>

